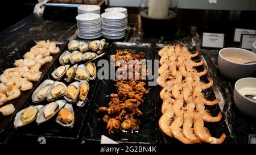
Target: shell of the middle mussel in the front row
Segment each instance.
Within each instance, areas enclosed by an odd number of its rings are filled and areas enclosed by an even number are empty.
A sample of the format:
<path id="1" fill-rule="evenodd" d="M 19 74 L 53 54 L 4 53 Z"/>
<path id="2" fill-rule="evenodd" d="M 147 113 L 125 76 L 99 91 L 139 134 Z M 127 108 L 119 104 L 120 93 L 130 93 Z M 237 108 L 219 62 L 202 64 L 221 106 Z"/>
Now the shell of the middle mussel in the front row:
<path id="1" fill-rule="evenodd" d="M 59 106 L 57 107 L 57 109 L 53 112 L 53 114 L 51 116 L 49 116 L 48 118 L 44 117 L 43 111 L 44 108 L 46 108 L 47 105 L 43 106 L 42 108 L 39 109 L 38 111 L 38 116 L 36 117 L 36 123 L 39 125 L 41 123 L 46 122 L 47 120 L 51 119 L 55 114 L 57 114 L 57 112 L 59 112 L 61 110 L 61 108 L 63 108 L 66 104 L 65 100 L 56 100 L 55 101 Z"/>

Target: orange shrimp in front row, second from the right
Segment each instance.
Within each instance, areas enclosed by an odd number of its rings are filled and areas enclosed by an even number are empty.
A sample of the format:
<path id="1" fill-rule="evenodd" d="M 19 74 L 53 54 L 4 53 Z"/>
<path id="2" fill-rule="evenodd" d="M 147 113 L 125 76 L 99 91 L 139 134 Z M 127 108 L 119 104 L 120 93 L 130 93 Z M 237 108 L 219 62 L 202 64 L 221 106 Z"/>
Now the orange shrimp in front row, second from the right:
<path id="1" fill-rule="evenodd" d="M 194 112 L 185 111 L 184 121 L 182 126 L 182 133 L 184 137 L 190 140 L 192 143 L 200 143 L 200 139 L 196 137 L 192 125 L 193 125 Z"/>

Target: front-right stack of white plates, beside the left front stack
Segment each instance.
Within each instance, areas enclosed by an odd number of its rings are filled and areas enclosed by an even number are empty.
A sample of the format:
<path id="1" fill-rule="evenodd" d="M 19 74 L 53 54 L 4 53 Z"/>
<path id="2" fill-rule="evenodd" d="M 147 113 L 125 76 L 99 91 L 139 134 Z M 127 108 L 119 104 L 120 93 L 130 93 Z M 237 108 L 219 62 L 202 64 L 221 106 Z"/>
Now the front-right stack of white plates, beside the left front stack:
<path id="1" fill-rule="evenodd" d="M 125 36 L 125 14 L 120 12 L 105 12 L 101 14 L 102 36 L 107 39 L 121 39 Z"/>

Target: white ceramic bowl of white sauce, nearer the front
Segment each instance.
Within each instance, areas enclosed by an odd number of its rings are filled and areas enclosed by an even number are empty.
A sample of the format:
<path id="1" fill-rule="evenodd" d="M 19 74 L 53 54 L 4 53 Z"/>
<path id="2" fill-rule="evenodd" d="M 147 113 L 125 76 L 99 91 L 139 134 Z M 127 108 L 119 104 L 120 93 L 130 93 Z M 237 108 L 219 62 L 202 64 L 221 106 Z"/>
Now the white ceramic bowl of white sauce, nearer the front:
<path id="1" fill-rule="evenodd" d="M 234 103 L 243 114 L 256 118 L 256 102 L 244 96 L 245 91 L 242 89 L 245 87 L 252 87 L 256 90 L 256 78 L 242 78 L 236 82 L 234 86 Z"/>

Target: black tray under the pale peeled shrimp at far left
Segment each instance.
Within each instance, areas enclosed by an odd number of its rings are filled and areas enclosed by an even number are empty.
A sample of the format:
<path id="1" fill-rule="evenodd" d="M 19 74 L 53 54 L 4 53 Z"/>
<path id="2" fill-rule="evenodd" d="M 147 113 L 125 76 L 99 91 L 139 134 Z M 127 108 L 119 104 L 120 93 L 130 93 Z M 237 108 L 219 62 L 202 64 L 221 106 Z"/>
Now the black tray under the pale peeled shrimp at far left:
<path id="1" fill-rule="evenodd" d="M 36 45 L 36 41 L 40 41 L 40 40 L 46 40 L 46 39 L 30 39 L 26 43 L 24 43 L 24 46 L 22 48 L 20 48 L 18 50 L 14 50 L 13 52 L 10 52 L 10 53 L 6 53 L 6 55 L 1 55 L 1 57 L 0 57 L 0 74 L 2 74 L 3 71 L 7 68 L 14 68 L 15 60 L 19 60 L 20 58 L 23 58 L 23 55 L 26 52 L 30 51 L 31 47 Z M 57 43 L 57 46 L 60 48 L 60 52 L 57 55 L 51 55 L 53 57 L 53 61 L 46 63 L 45 65 L 42 66 L 42 68 L 40 68 L 40 71 L 43 72 L 43 74 L 42 74 L 41 78 L 39 79 L 39 81 L 32 81 L 33 88 L 31 90 L 20 91 L 21 94 L 20 94 L 19 98 L 10 100 L 9 102 L 3 104 L 3 106 L 5 106 L 6 104 L 13 103 L 13 105 L 15 107 L 15 111 L 13 112 L 13 114 L 11 114 L 9 116 L 3 116 L 0 114 L 0 122 L 1 122 L 0 123 L 0 133 L 5 131 L 5 128 L 7 127 L 7 125 L 11 122 L 11 120 L 13 120 L 14 116 L 16 115 L 16 112 L 18 112 L 20 110 L 20 108 L 22 108 L 24 103 L 26 103 L 27 100 L 30 99 L 31 94 L 34 92 L 36 87 L 39 86 L 39 83 L 42 81 L 44 76 L 46 76 L 48 70 L 55 63 L 57 58 L 60 56 L 61 51 L 63 51 L 63 49 L 65 48 L 65 46 L 67 44 L 67 41 L 64 41 L 64 40 L 51 40 L 51 41 L 55 41 Z"/>

